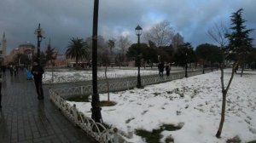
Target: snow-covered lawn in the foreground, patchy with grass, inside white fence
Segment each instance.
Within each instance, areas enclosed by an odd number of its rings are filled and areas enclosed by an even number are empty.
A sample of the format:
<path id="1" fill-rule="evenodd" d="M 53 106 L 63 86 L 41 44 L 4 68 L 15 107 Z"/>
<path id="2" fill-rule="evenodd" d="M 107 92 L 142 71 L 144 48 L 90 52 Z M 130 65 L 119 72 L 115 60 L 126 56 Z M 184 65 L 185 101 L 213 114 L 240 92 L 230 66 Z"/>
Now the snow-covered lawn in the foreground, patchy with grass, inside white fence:
<path id="1" fill-rule="evenodd" d="M 230 71 L 225 71 L 225 85 Z M 226 116 L 222 138 L 217 139 L 221 112 L 220 72 L 183 78 L 169 83 L 150 85 L 111 93 L 116 106 L 102 107 L 104 123 L 127 132 L 133 130 L 129 141 L 145 140 L 136 134 L 137 129 L 151 132 L 163 124 L 179 125 L 182 129 L 160 132 L 161 142 L 172 136 L 175 143 L 224 143 L 238 136 L 241 142 L 256 140 L 256 72 L 235 75 L 227 97 Z M 107 100 L 107 94 L 100 94 Z M 76 104 L 79 111 L 90 117 L 90 103 Z"/>

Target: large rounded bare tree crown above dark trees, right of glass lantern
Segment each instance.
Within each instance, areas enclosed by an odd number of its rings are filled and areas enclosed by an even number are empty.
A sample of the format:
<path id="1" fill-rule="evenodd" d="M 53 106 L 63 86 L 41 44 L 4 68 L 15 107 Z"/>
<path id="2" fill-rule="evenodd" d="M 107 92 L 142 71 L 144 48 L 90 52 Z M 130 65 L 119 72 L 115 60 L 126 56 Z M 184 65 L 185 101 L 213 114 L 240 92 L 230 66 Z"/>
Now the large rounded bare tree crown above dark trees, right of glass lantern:
<path id="1" fill-rule="evenodd" d="M 143 36 L 146 41 L 152 41 L 159 46 L 169 46 L 172 43 L 172 37 L 175 32 L 168 20 L 163 20 L 144 32 Z"/>

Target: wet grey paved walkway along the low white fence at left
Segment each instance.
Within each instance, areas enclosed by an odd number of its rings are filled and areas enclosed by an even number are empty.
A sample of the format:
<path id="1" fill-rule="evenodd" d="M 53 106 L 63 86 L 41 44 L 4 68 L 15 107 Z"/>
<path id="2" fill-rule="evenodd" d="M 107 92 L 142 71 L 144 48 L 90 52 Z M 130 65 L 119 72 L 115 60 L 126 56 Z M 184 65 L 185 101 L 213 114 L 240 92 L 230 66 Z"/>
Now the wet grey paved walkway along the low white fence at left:
<path id="1" fill-rule="evenodd" d="M 44 100 L 39 101 L 33 81 L 26 80 L 24 73 L 10 77 L 7 71 L 2 94 L 0 143 L 95 142 L 50 102 L 47 86 L 44 86 Z"/>

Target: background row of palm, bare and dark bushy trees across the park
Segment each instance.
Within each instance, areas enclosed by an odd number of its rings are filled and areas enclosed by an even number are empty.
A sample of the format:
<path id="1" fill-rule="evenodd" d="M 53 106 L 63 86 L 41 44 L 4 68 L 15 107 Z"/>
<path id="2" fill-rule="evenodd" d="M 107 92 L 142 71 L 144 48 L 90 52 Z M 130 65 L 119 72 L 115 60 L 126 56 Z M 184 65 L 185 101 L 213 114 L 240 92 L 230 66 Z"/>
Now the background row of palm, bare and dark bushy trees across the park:
<path id="1" fill-rule="evenodd" d="M 102 36 L 98 37 L 98 62 L 99 65 L 126 66 L 128 61 L 136 60 L 137 56 L 142 59 L 143 66 L 152 66 L 154 63 L 166 62 L 175 66 L 185 66 L 186 64 L 195 66 L 219 66 L 224 60 L 234 63 L 238 56 L 242 56 L 240 66 L 255 69 L 256 51 L 253 45 L 247 45 L 244 50 L 237 51 L 241 54 L 227 54 L 230 49 L 227 41 L 230 31 L 224 31 L 227 28 L 223 25 L 215 25 L 215 29 L 209 29 L 208 36 L 212 37 L 219 45 L 211 43 L 202 43 L 197 47 L 192 47 L 188 42 L 183 41 L 183 37 L 172 29 L 170 23 L 166 20 L 153 26 L 143 34 L 144 43 L 140 43 L 140 53 L 137 53 L 138 43 L 131 43 L 128 37 L 119 37 L 108 39 L 106 42 Z M 232 29 L 232 27 L 230 28 Z M 225 32 L 224 35 L 214 35 L 214 32 Z M 222 41 L 221 41 L 222 40 Z M 145 43 L 147 41 L 147 43 Z M 79 42 L 79 44 L 76 44 Z M 226 42 L 226 43 L 224 43 Z M 81 44 L 82 43 L 82 44 Z M 73 51 L 71 49 L 84 49 L 83 52 Z M 78 49 L 78 51 L 79 51 Z M 72 52 L 73 51 L 73 52 Z M 82 38 L 72 38 L 67 46 L 67 58 L 76 59 L 76 61 L 90 60 L 91 37 L 86 40 Z M 230 52 L 230 51 L 229 51 Z"/>

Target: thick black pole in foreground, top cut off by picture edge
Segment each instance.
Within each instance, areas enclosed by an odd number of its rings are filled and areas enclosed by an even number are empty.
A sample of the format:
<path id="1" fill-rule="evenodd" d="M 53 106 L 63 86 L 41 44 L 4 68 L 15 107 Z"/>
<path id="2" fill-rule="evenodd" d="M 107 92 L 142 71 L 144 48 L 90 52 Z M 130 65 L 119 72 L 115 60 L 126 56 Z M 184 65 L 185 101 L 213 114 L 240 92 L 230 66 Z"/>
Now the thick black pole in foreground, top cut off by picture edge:
<path id="1" fill-rule="evenodd" d="M 92 28 L 92 100 L 91 100 L 91 118 L 96 123 L 102 123 L 102 113 L 100 106 L 100 97 L 97 84 L 97 38 L 98 38 L 98 9 L 99 0 L 94 0 L 93 28 Z"/>

